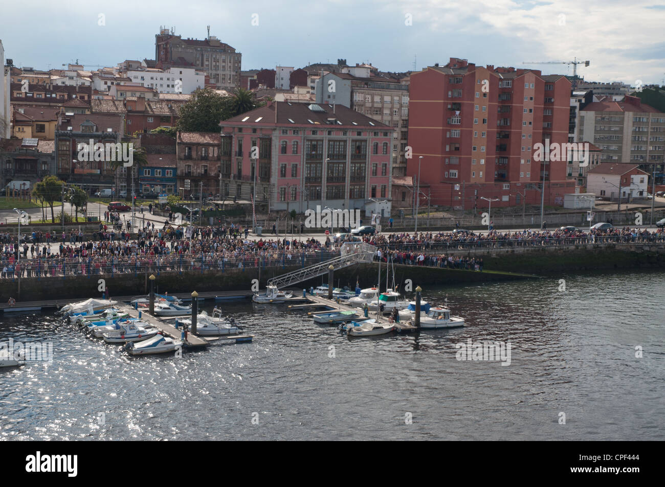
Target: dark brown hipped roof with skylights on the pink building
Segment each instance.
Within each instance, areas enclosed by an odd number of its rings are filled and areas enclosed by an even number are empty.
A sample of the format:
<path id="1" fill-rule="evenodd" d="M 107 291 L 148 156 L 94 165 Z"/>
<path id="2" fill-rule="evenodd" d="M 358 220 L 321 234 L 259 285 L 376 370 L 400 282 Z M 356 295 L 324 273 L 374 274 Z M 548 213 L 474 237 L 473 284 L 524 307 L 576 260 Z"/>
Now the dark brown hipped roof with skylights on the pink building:
<path id="1" fill-rule="evenodd" d="M 317 111 L 311 110 L 310 107 Z M 277 124 L 279 126 L 291 124 L 329 126 L 329 118 L 338 120 L 337 126 L 358 126 L 382 130 L 390 129 L 392 131 L 392 127 L 364 116 L 360 112 L 346 108 L 343 105 L 332 106 L 325 103 L 308 105 L 305 103 L 273 102 L 269 106 L 255 108 L 250 112 L 224 120 L 222 123 L 224 125 L 242 123 L 252 125 L 258 121 L 261 124 Z M 292 120 L 293 122 L 291 122 Z"/>

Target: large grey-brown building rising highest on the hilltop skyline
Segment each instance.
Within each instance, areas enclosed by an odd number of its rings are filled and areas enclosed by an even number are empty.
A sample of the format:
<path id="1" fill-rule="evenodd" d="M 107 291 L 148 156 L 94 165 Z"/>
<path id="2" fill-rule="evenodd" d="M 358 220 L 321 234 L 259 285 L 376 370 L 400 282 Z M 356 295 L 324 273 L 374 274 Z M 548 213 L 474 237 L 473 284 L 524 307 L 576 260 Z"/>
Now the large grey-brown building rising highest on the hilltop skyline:
<path id="1" fill-rule="evenodd" d="M 155 35 L 154 67 L 188 66 L 204 71 L 217 88 L 232 90 L 240 86 L 242 54 L 215 36 L 183 39 L 169 29 Z"/>

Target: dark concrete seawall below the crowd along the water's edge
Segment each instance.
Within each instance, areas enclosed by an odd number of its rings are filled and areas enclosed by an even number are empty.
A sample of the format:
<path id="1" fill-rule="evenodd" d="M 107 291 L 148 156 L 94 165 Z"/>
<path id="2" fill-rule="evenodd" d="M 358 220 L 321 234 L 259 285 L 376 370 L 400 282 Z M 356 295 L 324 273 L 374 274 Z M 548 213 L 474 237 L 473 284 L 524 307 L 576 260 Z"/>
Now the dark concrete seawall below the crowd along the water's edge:
<path id="1" fill-rule="evenodd" d="M 426 253 L 443 253 L 440 250 Z M 436 268 L 428 266 L 395 265 L 395 278 L 411 279 L 418 284 L 467 284 L 469 282 L 487 282 L 496 280 L 514 280 L 535 276 L 561 274 L 561 272 L 585 272 L 589 270 L 621 270 L 636 268 L 665 268 L 665 244 L 622 244 L 622 245 L 580 245 L 579 248 L 517 247 L 495 249 L 470 249 L 446 251 L 456 256 L 483 258 L 485 272 Z M 261 288 L 266 281 L 285 272 L 297 270 L 300 266 L 257 268 L 226 268 L 221 271 L 200 272 L 162 272 L 157 277 L 156 286 L 160 292 L 191 292 L 249 290 L 253 279 L 260 280 Z M 359 280 L 361 286 L 376 284 L 378 266 L 358 264 L 337 270 L 334 284 L 354 286 Z M 129 296 L 147 294 L 149 289 L 148 273 L 67 276 L 55 278 L 23 278 L 19 294 L 17 279 L 0 280 L 0 302 L 15 300 L 36 301 L 60 298 L 90 298 L 101 296 L 99 279 L 104 279 L 110 296 Z M 382 271 L 385 279 L 385 268 Z M 382 279 L 382 280 L 383 280 Z M 392 280 L 392 279 L 391 279 Z M 327 282 L 327 276 L 311 279 L 296 284 L 295 287 L 307 288 Z M 156 288 L 157 290 L 157 288 Z"/>

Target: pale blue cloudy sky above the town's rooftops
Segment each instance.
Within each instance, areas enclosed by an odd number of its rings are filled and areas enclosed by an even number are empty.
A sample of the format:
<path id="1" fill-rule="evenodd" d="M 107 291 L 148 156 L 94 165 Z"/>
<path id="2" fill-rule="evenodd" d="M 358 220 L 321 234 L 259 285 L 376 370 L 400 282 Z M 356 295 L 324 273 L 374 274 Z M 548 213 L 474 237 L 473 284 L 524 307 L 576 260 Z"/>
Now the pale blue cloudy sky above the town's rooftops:
<path id="1" fill-rule="evenodd" d="M 86 68 L 154 58 L 160 26 L 210 34 L 243 54 L 242 69 L 346 59 L 384 71 L 421 70 L 450 57 L 476 65 L 632 86 L 663 84 L 662 0 L 33 0 L 0 7 L 0 40 L 15 66 Z"/>

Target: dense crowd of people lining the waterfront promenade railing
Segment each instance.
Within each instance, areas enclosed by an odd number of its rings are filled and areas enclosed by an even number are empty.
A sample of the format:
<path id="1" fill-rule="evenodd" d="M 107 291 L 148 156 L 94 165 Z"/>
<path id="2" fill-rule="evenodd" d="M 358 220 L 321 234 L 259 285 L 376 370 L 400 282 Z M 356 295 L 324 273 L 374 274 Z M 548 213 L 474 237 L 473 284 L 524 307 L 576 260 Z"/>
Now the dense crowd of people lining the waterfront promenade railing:
<path id="1" fill-rule="evenodd" d="M 323 262 L 340 253 L 344 243 L 327 237 L 247 239 L 249 228 L 182 227 L 170 221 L 153 222 L 138 233 L 118 231 L 100 223 L 92 236 L 82 231 L 33 231 L 31 242 L 17 243 L 15 235 L 0 233 L 3 251 L 0 277 L 16 278 L 138 272 L 223 270 L 230 267 L 302 266 Z M 610 231 L 516 231 L 477 234 L 466 231 L 387 233 L 363 239 L 377 247 L 375 258 L 396 264 L 483 270 L 482 258 L 456 255 L 473 247 L 565 245 L 577 243 L 665 241 L 663 229 Z M 55 248 L 53 244 L 59 243 Z"/>

